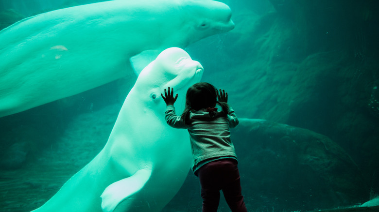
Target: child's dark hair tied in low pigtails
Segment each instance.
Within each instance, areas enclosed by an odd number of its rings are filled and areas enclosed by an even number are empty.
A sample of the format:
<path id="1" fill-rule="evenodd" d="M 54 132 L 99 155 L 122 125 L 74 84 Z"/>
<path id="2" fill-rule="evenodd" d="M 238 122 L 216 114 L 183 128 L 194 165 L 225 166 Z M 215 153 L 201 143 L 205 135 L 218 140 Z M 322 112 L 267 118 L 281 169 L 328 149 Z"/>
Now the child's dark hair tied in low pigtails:
<path id="1" fill-rule="evenodd" d="M 216 104 L 219 104 L 222 108 L 222 111 L 226 114 L 229 114 L 228 104 L 226 102 L 217 101 L 219 91 L 216 87 L 207 83 L 199 82 L 187 90 L 186 94 L 186 107 L 184 108 L 182 119 L 184 123 L 189 125 L 189 111 L 190 110 L 200 110 L 202 108 L 215 107 Z"/>

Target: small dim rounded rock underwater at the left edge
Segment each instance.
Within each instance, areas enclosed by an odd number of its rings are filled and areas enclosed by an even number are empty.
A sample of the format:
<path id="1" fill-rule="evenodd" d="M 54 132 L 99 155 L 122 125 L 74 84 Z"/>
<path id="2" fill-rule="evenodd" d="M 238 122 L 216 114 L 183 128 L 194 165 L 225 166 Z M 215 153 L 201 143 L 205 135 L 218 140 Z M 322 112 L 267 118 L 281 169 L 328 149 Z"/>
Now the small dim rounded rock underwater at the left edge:
<path id="1" fill-rule="evenodd" d="M 29 152 L 29 144 L 27 142 L 18 142 L 10 146 L 0 157 L 0 168 L 17 169 L 22 166 Z"/>

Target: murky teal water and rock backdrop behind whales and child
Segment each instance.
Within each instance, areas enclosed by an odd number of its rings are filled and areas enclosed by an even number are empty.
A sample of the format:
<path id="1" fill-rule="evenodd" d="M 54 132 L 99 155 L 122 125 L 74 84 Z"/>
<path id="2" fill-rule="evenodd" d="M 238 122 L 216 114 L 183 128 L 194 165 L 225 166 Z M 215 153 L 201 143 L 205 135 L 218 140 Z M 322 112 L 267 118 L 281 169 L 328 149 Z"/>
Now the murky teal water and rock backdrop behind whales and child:
<path id="1" fill-rule="evenodd" d="M 0 29 L 93 2 L 0 0 Z M 329 209 L 377 197 L 379 2 L 222 2 L 235 29 L 185 50 L 203 65 L 202 81 L 229 93 L 241 119 L 232 141 L 248 210 Z M 101 151 L 134 82 L 0 118 L 0 211 L 40 207 Z M 219 211 L 230 211 L 221 198 Z M 198 212 L 201 202 L 189 172 L 163 212 Z"/>

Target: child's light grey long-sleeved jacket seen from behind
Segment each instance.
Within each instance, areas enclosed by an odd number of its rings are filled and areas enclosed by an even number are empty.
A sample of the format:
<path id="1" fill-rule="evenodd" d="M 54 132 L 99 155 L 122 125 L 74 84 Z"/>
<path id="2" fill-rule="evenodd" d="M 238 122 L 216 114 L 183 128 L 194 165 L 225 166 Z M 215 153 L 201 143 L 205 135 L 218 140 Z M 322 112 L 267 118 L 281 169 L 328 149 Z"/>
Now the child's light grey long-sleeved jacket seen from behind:
<path id="1" fill-rule="evenodd" d="M 238 125 L 238 118 L 229 106 L 229 114 L 222 111 L 211 112 L 206 109 L 190 111 L 191 123 L 186 125 L 181 116 L 177 116 L 174 106 L 166 107 L 166 121 L 174 128 L 187 129 L 191 142 L 193 164 L 192 171 L 201 166 L 224 158 L 237 160 L 234 145 L 230 139 L 230 128 Z"/>

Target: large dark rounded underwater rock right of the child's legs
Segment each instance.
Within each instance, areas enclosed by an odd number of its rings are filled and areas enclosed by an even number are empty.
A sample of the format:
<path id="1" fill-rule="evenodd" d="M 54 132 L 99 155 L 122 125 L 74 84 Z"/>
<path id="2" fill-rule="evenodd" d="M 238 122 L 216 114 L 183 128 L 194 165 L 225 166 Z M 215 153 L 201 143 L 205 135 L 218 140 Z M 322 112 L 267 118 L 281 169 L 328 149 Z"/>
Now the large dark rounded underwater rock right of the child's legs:
<path id="1" fill-rule="evenodd" d="M 243 195 L 257 208 L 312 210 L 354 205 L 368 196 L 362 173 L 327 136 L 265 120 L 241 119 L 232 132 Z M 268 205 L 269 206 L 269 205 Z"/>

